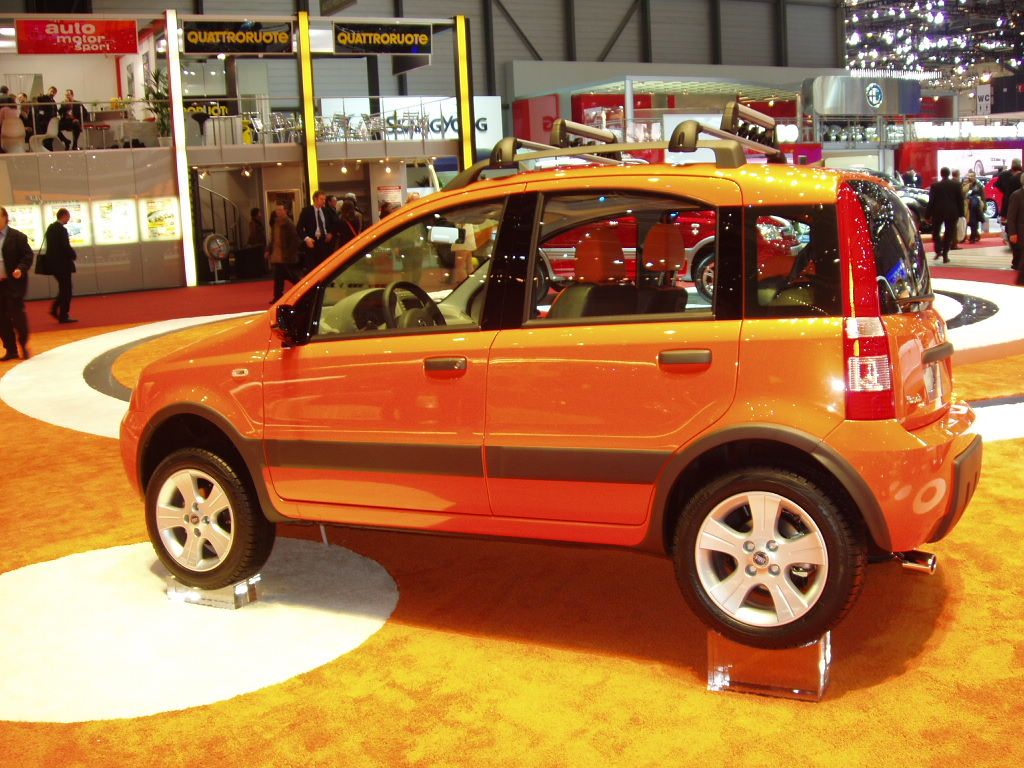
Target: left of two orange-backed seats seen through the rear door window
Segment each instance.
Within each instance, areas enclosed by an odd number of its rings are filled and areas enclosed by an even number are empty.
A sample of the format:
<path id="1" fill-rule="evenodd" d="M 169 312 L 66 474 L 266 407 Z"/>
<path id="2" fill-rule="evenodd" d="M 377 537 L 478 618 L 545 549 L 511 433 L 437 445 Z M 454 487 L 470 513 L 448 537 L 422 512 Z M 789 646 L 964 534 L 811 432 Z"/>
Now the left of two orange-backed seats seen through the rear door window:
<path id="1" fill-rule="evenodd" d="M 626 259 L 614 230 L 601 227 L 577 246 L 575 275 L 548 310 L 549 318 L 633 314 L 637 289 L 626 283 Z"/>

